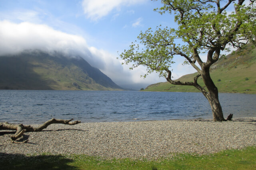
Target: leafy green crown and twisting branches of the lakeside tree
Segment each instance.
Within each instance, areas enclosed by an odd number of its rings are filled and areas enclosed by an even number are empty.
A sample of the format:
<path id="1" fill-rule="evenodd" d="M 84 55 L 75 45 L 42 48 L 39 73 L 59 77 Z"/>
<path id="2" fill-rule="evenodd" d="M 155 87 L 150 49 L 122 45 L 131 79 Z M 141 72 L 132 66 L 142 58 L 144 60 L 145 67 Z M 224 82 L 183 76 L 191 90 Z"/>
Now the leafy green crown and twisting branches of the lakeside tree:
<path id="1" fill-rule="evenodd" d="M 218 99 L 218 90 L 210 78 L 210 66 L 222 56 L 221 51 L 228 51 L 230 47 L 240 48 L 249 42 L 255 45 L 254 0 L 161 0 L 161 2 L 163 6 L 154 10 L 160 14 L 174 14 L 178 28 L 158 26 L 154 31 L 149 28 L 141 32 L 138 36 L 139 43 L 133 42 L 128 50 L 120 54 L 120 58 L 125 64 L 132 63 L 130 69 L 139 65 L 146 66 L 148 73 L 156 71 L 172 84 L 195 86 L 209 102 L 213 98 Z M 179 43 L 181 41 L 182 43 Z M 207 53 L 206 62 L 202 61 L 203 53 Z M 194 78 L 194 82 L 172 80 L 171 66 L 174 63 L 174 56 L 183 57 L 184 64 L 191 64 L 196 69 L 198 75 Z M 197 84 L 200 76 L 207 90 Z M 210 105 L 212 106 L 211 102 Z M 220 118 L 219 121 L 222 120 L 223 118 Z"/>

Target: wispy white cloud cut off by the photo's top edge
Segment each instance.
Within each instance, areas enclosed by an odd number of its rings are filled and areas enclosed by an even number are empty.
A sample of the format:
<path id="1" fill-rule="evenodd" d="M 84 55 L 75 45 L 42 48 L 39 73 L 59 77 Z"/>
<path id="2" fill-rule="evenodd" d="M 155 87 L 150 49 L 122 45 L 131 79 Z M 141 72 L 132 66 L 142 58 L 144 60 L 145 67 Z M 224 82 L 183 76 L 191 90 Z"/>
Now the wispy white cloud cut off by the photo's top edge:
<path id="1" fill-rule="evenodd" d="M 112 10 L 120 10 L 122 6 L 130 6 L 146 2 L 147 0 L 84 0 L 82 6 L 84 14 L 91 20 L 98 20 L 108 15 Z"/>

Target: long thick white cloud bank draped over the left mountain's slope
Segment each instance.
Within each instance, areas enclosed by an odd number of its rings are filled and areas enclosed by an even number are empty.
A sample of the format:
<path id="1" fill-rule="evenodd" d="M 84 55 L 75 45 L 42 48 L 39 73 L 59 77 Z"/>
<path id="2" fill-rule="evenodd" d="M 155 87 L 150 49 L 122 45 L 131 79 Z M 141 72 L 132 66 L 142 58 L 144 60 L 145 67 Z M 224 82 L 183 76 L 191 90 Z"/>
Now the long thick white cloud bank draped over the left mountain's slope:
<path id="1" fill-rule="evenodd" d="M 146 68 L 140 66 L 130 71 L 128 65 L 122 65 L 122 61 L 116 59 L 118 54 L 90 47 L 78 35 L 64 33 L 48 25 L 0 21 L 0 55 L 16 54 L 26 49 L 39 49 L 48 53 L 58 51 L 67 56 L 80 55 L 125 88 L 140 89 L 164 81 L 159 79 L 158 74 L 150 74 L 146 79 L 140 78 L 140 75 L 146 73 Z"/>

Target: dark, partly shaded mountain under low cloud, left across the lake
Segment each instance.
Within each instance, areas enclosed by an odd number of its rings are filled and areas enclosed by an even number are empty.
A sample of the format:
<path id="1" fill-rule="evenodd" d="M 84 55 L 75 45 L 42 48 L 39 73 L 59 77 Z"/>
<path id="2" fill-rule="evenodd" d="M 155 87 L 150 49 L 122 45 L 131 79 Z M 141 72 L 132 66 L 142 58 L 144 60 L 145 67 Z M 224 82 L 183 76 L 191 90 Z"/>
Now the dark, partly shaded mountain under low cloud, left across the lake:
<path id="1" fill-rule="evenodd" d="M 0 89 L 122 90 L 82 57 L 38 50 L 0 56 Z"/>

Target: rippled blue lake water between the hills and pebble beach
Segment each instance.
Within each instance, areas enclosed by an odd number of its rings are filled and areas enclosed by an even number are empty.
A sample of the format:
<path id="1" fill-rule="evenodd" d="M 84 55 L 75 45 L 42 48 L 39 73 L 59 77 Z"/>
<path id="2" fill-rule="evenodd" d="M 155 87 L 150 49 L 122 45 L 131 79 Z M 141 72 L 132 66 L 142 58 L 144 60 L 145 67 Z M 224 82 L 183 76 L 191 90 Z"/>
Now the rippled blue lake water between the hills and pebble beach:
<path id="1" fill-rule="evenodd" d="M 224 117 L 256 117 L 255 94 L 219 94 Z M 201 93 L 0 90 L 0 122 L 43 123 L 212 118 Z"/>

